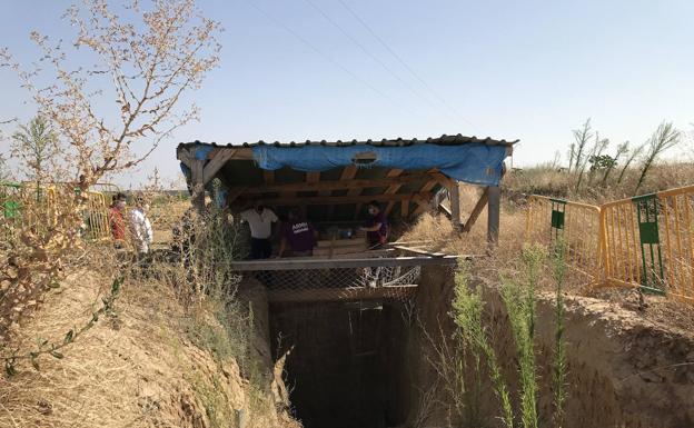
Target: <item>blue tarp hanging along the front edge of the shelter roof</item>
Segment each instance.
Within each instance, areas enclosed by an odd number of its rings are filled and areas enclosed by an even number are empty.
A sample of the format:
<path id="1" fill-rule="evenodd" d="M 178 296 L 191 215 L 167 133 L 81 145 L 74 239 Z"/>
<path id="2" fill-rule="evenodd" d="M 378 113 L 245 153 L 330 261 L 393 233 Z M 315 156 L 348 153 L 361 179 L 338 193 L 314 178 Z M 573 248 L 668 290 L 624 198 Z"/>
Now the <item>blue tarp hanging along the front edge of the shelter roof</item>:
<path id="1" fill-rule="evenodd" d="M 262 169 L 276 170 L 289 167 L 299 171 L 325 171 L 354 165 L 354 157 L 371 152 L 376 160 L 363 168 L 384 167 L 397 169 L 438 168 L 446 176 L 459 181 L 482 186 L 498 186 L 506 147 L 467 143 L 459 146 L 413 145 L 406 147 L 371 146 L 256 146 L 254 159 Z M 197 155 L 197 153 L 196 153 Z"/>

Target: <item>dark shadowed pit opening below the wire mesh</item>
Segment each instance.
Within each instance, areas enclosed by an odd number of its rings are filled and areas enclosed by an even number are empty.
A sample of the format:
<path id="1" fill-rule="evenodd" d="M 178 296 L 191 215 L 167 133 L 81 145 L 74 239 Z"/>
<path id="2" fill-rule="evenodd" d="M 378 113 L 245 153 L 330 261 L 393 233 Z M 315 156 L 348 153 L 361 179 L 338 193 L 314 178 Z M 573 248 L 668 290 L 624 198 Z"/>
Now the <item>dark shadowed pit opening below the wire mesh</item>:
<path id="1" fill-rule="evenodd" d="M 270 306 L 272 351 L 286 360 L 295 416 L 306 428 L 405 422 L 408 329 L 397 301 Z"/>

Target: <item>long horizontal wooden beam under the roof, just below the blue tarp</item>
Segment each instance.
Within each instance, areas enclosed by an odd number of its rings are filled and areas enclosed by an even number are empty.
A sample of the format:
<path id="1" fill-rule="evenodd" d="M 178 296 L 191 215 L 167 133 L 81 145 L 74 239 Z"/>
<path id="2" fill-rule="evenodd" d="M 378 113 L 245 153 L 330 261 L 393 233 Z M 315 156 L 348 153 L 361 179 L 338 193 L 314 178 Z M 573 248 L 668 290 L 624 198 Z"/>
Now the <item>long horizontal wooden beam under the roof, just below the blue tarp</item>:
<path id="1" fill-rule="evenodd" d="M 429 180 L 427 181 L 427 185 L 428 183 L 432 185 L 432 186 L 427 186 L 426 190 L 424 190 L 424 191 L 428 191 L 437 183 L 437 180 L 432 175 L 427 175 L 427 173 L 378 178 L 378 179 L 373 179 L 373 180 L 347 179 L 347 180 L 338 180 L 338 181 L 336 180 L 319 181 L 318 179 L 315 178 L 315 176 L 313 176 L 315 173 L 316 172 L 308 172 L 306 175 L 306 182 L 290 182 L 286 185 L 272 183 L 272 185 L 264 185 L 264 186 L 254 187 L 252 195 L 274 193 L 274 192 L 284 192 L 284 191 L 288 191 L 288 192 L 289 191 L 291 192 L 294 191 L 326 191 L 326 190 L 343 190 L 343 189 L 358 189 L 360 191 L 361 189 L 369 188 L 369 187 L 371 188 L 373 187 L 387 187 L 387 186 L 393 186 L 393 185 L 404 185 L 408 182 L 425 181 L 425 180 Z M 356 191 L 353 193 L 356 193 L 353 196 L 358 195 L 358 192 Z"/>

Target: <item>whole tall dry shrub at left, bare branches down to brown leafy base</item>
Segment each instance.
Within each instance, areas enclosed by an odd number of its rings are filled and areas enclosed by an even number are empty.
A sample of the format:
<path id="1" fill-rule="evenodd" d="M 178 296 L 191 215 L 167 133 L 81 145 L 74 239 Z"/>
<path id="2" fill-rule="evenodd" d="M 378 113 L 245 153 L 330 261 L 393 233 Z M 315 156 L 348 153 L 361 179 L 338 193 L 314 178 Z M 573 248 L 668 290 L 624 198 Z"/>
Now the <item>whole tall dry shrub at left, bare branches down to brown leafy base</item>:
<path id="1" fill-rule="evenodd" d="M 0 217 L 0 231 L 17 237 L 0 240 L 11 260 L 0 263 L 0 283 L 11 291 L 0 293 L 0 337 L 9 319 L 2 316 L 17 317 L 23 302 L 65 275 L 63 263 L 82 248 L 89 187 L 141 162 L 177 128 L 197 119 L 198 109 L 186 107 L 181 97 L 199 88 L 219 62 L 220 26 L 194 0 L 125 1 L 111 8 L 106 0 L 83 0 L 68 9 L 65 17 L 77 29 L 68 48 L 32 32 L 43 56 L 31 68 L 0 49 L 0 66 L 17 71 L 59 136 L 65 178 L 71 181 L 56 190 L 61 203 L 51 208 L 50 221 L 18 229 Z M 73 66 L 85 50 L 96 64 Z M 30 208 L 22 205 L 22 216 Z"/>

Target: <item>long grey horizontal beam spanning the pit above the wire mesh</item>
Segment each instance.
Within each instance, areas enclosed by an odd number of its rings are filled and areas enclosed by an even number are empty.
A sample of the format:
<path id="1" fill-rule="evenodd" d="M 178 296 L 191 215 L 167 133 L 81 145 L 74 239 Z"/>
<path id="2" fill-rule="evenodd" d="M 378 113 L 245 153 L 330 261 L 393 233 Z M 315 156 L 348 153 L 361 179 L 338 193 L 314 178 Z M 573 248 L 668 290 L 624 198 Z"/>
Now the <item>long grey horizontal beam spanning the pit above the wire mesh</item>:
<path id="1" fill-rule="evenodd" d="M 355 258 L 355 259 L 274 259 L 231 261 L 231 269 L 238 271 L 258 270 L 305 270 L 305 269 L 343 269 L 368 267 L 408 267 L 408 266 L 455 266 L 458 256 L 444 257 L 386 257 L 386 258 Z"/>

